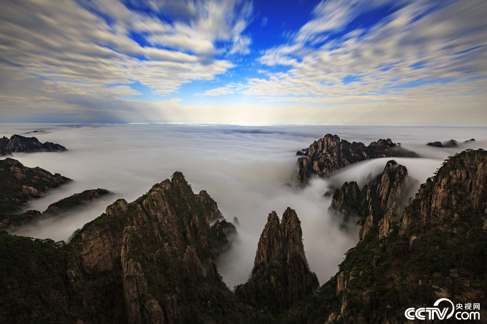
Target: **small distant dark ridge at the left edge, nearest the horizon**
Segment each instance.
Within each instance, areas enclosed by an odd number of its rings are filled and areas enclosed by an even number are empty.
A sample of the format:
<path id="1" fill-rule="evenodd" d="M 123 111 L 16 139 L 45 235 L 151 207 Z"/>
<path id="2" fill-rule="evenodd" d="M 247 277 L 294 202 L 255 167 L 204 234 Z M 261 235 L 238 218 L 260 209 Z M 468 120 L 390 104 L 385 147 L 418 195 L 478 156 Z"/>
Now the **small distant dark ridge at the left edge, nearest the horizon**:
<path id="1" fill-rule="evenodd" d="M 0 138 L 0 156 L 20 152 L 26 153 L 63 151 L 67 151 L 66 147 L 51 142 L 40 143 L 39 140 L 37 140 L 37 138 L 35 137 L 12 135 L 10 139 L 7 137 Z"/>

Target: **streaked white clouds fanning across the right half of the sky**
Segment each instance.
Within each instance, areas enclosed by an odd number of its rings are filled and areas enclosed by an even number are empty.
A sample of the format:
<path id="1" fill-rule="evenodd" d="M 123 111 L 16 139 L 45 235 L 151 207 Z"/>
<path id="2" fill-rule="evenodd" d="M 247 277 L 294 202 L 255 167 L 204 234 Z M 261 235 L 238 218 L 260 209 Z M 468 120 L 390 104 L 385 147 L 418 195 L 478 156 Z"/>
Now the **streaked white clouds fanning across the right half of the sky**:
<path id="1" fill-rule="evenodd" d="M 463 105 L 463 94 L 485 93 L 485 2 L 457 1 L 430 12 L 434 3 L 414 1 L 365 34 L 355 30 L 317 49 L 306 45 L 305 41 L 322 36 L 324 31 L 343 29 L 363 4 L 318 4 L 312 20 L 290 43 L 269 49 L 259 58 L 262 64 L 285 65 L 289 70 L 250 79 L 244 94 L 315 103 L 335 98 L 347 102 L 357 96 L 381 101 L 394 98 L 394 102 L 407 101 L 412 95 L 430 99 L 448 96 L 456 105 L 468 108 Z M 472 48 L 476 49 L 461 53 Z M 355 76 L 355 81 L 344 82 L 348 76 Z M 404 90 L 404 84 L 414 87 Z M 431 84 L 434 91 L 427 90 Z M 441 107 L 431 109 L 441 112 Z"/>

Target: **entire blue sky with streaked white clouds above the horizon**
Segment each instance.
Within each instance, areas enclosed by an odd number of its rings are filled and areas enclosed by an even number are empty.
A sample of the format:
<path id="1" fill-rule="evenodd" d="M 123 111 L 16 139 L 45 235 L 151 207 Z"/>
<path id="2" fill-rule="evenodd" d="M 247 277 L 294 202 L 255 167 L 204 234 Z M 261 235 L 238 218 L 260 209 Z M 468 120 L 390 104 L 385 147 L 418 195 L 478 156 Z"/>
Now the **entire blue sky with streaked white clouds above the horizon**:
<path id="1" fill-rule="evenodd" d="M 486 1 L 1 9 L 3 121 L 487 124 Z"/>

